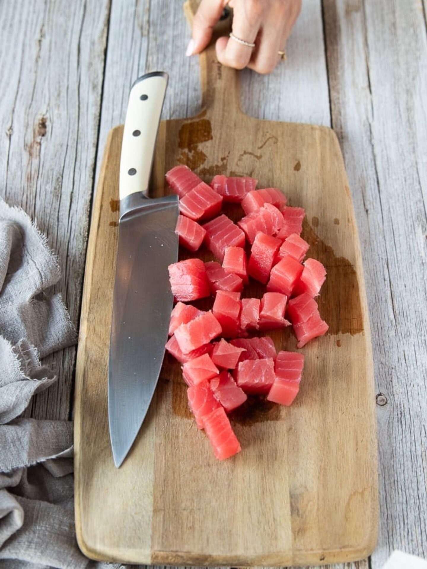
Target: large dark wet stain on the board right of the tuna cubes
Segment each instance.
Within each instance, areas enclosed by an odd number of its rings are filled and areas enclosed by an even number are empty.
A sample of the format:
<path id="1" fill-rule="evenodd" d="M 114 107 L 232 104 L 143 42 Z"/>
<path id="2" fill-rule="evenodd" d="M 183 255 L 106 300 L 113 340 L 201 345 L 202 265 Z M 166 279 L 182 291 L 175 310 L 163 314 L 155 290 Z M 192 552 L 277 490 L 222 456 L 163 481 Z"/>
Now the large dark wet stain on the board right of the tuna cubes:
<path id="1" fill-rule="evenodd" d="M 329 324 L 327 334 L 363 332 L 359 282 L 354 266 L 345 257 L 337 257 L 306 220 L 302 237 L 310 245 L 309 257 L 318 259 L 327 271 L 321 295 L 316 299 L 322 318 Z"/>

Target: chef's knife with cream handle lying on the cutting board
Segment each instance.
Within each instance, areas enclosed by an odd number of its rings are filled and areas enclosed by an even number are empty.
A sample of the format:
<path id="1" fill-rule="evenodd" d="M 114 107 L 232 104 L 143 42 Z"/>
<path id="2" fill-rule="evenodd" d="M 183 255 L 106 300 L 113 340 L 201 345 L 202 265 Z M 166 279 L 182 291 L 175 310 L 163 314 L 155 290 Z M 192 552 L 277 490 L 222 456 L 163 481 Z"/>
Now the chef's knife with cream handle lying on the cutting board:
<path id="1" fill-rule="evenodd" d="M 167 266 L 178 259 L 178 199 L 147 189 L 167 75 L 132 86 L 120 158 L 120 221 L 108 366 L 108 418 L 120 467 L 141 428 L 165 355 L 173 295 Z"/>

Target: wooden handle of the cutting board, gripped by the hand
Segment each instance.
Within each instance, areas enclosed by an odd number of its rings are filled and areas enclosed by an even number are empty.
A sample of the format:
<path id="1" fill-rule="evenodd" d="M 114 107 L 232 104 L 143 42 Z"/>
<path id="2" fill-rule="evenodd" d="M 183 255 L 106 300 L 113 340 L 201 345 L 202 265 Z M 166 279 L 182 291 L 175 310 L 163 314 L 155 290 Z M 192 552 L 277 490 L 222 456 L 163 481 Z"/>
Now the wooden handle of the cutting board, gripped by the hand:
<path id="1" fill-rule="evenodd" d="M 183 9 L 187 21 L 192 26 L 192 20 L 199 6 L 199 0 L 187 0 Z M 209 46 L 200 53 L 200 83 L 202 86 L 202 106 L 210 111 L 219 109 L 221 116 L 240 111 L 240 83 L 236 69 L 221 65 L 216 59 L 215 42 L 219 36 L 231 32 L 232 10 L 227 8 L 228 15 L 220 20 L 213 28 L 212 40 Z"/>

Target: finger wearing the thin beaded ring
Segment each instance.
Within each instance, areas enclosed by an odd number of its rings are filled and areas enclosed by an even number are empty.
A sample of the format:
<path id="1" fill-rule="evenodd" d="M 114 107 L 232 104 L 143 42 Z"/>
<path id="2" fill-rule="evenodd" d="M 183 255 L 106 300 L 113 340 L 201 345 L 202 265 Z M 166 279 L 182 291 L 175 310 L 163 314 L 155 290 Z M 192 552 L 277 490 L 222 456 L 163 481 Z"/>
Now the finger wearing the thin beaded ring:
<path id="1" fill-rule="evenodd" d="M 233 35 L 236 38 L 253 43 L 261 26 L 261 2 L 245 0 L 234 8 Z M 243 69 L 251 60 L 253 48 L 237 43 L 232 38 L 219 38 L 216 42 L 216 57 L 227 67 Z"/>

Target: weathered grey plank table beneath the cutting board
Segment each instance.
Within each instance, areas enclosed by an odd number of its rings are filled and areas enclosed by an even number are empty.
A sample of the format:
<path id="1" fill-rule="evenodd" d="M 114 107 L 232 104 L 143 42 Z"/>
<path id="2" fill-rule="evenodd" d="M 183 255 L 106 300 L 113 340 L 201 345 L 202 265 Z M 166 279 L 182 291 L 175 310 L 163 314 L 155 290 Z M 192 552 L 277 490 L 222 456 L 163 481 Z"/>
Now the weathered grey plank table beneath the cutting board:
<path id="1" fill-rule="evenodd" d="M 253 116 L 332 126 L 362 245 L 380 460 L 379 569 L 396 548 L 427 557 L 427 1 L 304 0 L 288 60 L 242 73 Z M 0 2 L 0 192 L 59 254 L 78 326 L 92 197 L 130 85 L 164 69 L 165 118 L 195 114 L 196 57 L 176 0 Z M 226 125 L 224 125 L 226 127 Z M 59 382 L 28 415 L 72 418 L 76 348 L 47 358 Z M 336 566 L 343 568 L 344 566 Z"/>

